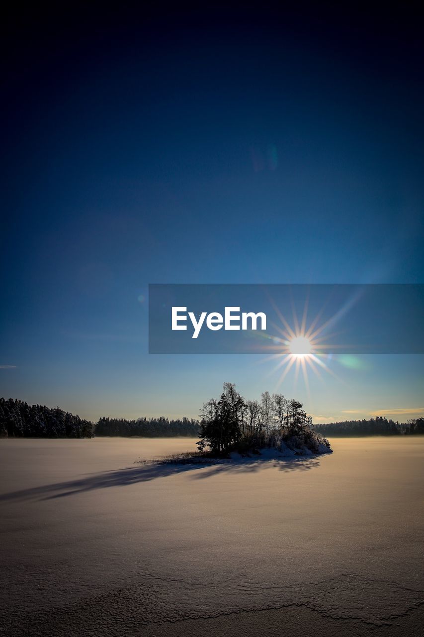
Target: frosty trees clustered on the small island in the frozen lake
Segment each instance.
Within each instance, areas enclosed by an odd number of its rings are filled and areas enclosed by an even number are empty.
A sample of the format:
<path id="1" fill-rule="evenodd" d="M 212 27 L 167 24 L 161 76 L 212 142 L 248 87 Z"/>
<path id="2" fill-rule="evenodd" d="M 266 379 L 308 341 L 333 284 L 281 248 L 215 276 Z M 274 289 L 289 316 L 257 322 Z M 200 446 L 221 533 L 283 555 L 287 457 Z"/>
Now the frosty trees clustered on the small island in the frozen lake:
<path id="1" fill-rule="evenodd" d="M 318 450 L 320 444 L 329 448 L 328 441 L 313 431 L 312 418 L 302 403 L 269 392 L 260 401 L 245 400 L 234 383 L 224 383 L 220 398 L 203 405 L 200 426 L 197 446 L 200 451 L 209 448 L 214 455 L 271 447 L 276 440 L 292 440 L 309 450 Z"/>

